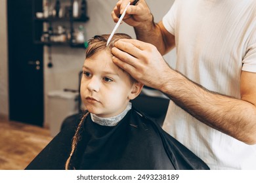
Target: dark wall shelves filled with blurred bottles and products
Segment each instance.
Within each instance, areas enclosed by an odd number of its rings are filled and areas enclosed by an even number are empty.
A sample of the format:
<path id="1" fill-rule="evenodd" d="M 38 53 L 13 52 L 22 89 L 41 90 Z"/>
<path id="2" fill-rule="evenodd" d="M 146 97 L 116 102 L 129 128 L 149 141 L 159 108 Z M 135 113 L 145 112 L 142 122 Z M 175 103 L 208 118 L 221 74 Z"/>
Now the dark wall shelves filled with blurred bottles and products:
<path id="1" fill-rule="evenodd" d="M 41 2 L 42 6 L 37 5 Z M 74 7 L 75 5 L 75 7 Z M 33 42 L 46 46 L 87 46 L 85 0 L 33 0 Z M 74 12 L 75 11 L 75 12 Z M 38 27 L 41 27 L 39 31 Z"/>

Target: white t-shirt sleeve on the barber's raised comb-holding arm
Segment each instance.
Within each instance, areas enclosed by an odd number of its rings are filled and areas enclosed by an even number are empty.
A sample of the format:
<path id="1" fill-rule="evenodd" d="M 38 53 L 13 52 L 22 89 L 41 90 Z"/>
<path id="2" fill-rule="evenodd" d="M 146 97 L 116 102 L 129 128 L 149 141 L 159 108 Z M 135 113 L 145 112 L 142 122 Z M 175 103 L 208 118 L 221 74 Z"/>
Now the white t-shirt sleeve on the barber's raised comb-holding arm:
<path id="1" fill-rule="evenodd" d="M 177 1 L 174 1 L 170 10 L 163 16 L 163 26 L 169 33 L 175 35 L 175 22 L 176 22 L 176 10 L 177 10 Z"/>

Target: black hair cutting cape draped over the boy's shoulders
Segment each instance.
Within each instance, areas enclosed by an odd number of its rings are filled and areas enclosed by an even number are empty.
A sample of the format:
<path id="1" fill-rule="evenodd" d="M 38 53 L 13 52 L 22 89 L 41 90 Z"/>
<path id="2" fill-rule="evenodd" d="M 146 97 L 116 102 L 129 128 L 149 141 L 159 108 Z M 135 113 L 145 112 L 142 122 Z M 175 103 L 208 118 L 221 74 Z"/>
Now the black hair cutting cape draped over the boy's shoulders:
<path id="1" fill-rule="evenodd" d="M 65 169 L 78 124 L 79 120 L 64 127 L 26 169 Z M 80 134 L 71 159 L 73 169 L 209 169 L 154 120 L 133 108 L 115 127 L 98 125 L 89 115 Z"/>

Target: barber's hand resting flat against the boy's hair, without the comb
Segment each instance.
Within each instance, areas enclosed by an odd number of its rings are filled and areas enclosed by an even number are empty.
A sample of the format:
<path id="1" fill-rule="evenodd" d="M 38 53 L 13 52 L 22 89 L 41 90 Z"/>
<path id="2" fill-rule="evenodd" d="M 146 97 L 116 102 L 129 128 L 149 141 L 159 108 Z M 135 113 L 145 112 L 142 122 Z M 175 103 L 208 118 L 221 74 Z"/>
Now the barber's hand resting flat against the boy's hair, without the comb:
<path id="1" fill-rule="evenodd" d="M 112 48 L 112 61 L 142 84 L 162 89 L 171 68 L 156 46 L 135 39 L 120 39 Z"/>

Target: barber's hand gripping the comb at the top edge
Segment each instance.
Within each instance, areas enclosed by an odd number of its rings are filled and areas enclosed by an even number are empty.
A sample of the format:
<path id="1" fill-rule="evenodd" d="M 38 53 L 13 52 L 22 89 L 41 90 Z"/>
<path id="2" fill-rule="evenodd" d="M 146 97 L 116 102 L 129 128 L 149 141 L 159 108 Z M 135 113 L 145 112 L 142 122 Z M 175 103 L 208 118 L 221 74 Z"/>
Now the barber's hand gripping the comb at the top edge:
<path id="1" fill-rule="evenodd" d="M 131 2 L 131 5 L 127 7 L 123 22 L 133 27 L 143 25 L 145 22 L 152 22 L 150 9 L 144 0 L 140 0 L 137 5 L 133 5 L 134 0 L 119 0 L 116 7 L 114 7 L 114 10 L 112 10 L 112 18 L 114 22 L 119 20 L 119 15 L 123 13 L 123 10 L 125 10 L 129 1 Z"/>

